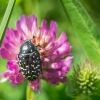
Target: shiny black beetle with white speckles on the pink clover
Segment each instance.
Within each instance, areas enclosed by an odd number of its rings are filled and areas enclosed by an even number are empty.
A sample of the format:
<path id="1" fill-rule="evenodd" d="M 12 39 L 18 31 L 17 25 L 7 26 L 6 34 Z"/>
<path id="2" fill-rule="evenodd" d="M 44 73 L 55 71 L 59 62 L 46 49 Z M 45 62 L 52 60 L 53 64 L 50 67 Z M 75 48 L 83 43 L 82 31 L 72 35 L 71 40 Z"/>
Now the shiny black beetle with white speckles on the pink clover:
<path id="1" fill-rule="evenodd" d="M 42 61 L 37 47 L 26 40 L 20 47 L 18 65 L 22 75 L 29 81 L 35 81 L 42 72 Z"/>

